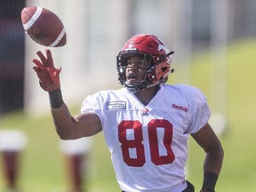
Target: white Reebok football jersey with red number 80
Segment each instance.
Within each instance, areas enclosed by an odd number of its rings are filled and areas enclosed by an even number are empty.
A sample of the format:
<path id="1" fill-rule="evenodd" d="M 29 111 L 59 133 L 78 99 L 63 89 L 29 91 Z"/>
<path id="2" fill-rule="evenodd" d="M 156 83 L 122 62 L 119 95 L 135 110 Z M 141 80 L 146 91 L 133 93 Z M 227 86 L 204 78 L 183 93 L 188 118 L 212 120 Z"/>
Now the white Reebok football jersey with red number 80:
<path id="1" fill-rule="evenodd" d="M 187 187 L 188 133 L 210 117 L 198 89 L 161 84 L 147 106 L 126 88 L 102 91 L 88 96 L 81 111 L 100 117 L 122 190 L 180 192 Z"/>

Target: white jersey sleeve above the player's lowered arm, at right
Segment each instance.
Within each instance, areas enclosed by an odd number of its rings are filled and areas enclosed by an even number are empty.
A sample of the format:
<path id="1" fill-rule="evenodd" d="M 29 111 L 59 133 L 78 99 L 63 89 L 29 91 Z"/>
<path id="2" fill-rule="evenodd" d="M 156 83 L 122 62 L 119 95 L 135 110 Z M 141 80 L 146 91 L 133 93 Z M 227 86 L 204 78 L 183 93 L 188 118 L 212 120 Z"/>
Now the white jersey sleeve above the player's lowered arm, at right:
<path id="1" fill-rule="evenodd" d="M 195 133 L 207 124 L 211 116 L 211 110 L 204 93 L 198 89 L 195 89 L 190 95 L 190 106 L 193 110 L 190 114 L 187 132 Z"/>

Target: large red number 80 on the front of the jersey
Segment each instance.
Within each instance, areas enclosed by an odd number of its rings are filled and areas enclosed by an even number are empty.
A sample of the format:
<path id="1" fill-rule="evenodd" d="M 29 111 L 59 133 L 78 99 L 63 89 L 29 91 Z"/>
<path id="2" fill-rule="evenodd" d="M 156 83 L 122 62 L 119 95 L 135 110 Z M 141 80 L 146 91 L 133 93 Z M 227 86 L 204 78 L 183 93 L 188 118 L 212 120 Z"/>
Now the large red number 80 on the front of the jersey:
<path id="1" fill-rule="evenodd" d="M 164 129 L 163 140 L 157 137 L 157 128 Z M 127 132 L 133 132 L 133 138 L 127 138 Z M 142 143 L 142 124 L 140 121 L 122 121 L 118 125 L 118 139 L 121 143 L 122 153 L 125 164 L 129 166 L 141 167 L 146 163 L 145 148 Z M 163 142 L 166 155 L 160 156 L 158 143 Z M 172 152 L 172 124 L 165 119 L 152 119 L 148 123 L 148 142 L 150 148 L 151 161 L 156 164 L 172 164 L 174 154 Z M 136 157 L 131 157 L 129 149 L 136 150 Z"/>

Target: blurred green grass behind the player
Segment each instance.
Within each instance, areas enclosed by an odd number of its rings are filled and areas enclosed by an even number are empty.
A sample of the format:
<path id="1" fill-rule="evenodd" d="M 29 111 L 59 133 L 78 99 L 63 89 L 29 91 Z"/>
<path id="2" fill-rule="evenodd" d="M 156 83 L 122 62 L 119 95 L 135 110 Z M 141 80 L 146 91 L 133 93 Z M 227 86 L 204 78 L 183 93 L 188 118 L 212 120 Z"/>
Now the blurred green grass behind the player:
<path id="1" fill-rule="evenodd" d="M 228 47 L 228 127 L 220 135 L 225 150 L 224 164 L 216 188 L 218 192 L 252 192 L 256 183 L 256 40 L 248 39 Z M 210 95 L 209 53 L 193 57 L 191 84 Z M 173 74 L 173 76 L 178 74 Z M 218 76 L 216 76 L 218 78 Z M 172 77 L 170 77 L 172 81 Z M 172 83 L 172 82 L 171 82 Z M 79 107 L 80 103 L 77 104 Z M 77 113 L 78 108 L 72 109 Z M 28 148 L 21 155 L 22 192 L 68 192 L 65 161 L 51 116 L 31 118 L 21 112 L 0 117 L 0 129 L 20 129 L 28 134 Z M 204 153 L 189 139 L 188 180 L 199 191 L 203 176 Z M 120 191 L 102 133 L 94 137 L 87 188 L 95 192 Z M 0 159 L 0 191 L 5 192 Z"/>

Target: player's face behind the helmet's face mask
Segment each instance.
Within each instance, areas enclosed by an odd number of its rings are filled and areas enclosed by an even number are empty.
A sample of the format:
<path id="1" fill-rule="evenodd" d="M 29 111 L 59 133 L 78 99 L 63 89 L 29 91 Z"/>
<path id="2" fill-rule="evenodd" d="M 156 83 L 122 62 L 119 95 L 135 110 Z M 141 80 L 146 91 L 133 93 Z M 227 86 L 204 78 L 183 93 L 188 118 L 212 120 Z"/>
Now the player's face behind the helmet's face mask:
<path id="1" fill-rule="evenodd" d="M 144 56 L 134 56 L 127 60 L 126 83 L 135 84 L 145 78 L 150 67 L 148 58 Z"/>

